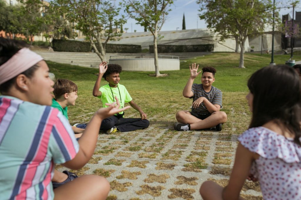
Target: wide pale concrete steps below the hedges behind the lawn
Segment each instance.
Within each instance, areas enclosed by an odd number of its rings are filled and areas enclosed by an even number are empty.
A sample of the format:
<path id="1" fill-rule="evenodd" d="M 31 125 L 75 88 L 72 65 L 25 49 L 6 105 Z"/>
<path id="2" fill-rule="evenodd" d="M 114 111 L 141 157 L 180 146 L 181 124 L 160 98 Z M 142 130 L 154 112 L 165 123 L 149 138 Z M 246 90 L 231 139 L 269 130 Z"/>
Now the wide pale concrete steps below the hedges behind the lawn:
<path id="1" fill-rule="evenodd" d="M 62 64 L 70 64 L 70 65 L 78 65 L 82 67 L 92 67 L 98 68 L 101 59 L 97 56 L 96 53 L 88 53 L 88 52 L 56 52 L 56 51 L 35 51 L 39 55 L 41 55 L 45 60 L 49 60 L 52 62 L 62 63 Z M 179 56 L 180 60 L 194 58 L 197 56 L 203 56 L 210 52 L 191 52 L 191 53 L 160 53 L 159 55 L 164 56 Z M 107 53 L 106 60 L 109 61 L 110 56 L 118 56 L 118 58 L 122 58 L 123 56 L 129 58 L 141 58 L 141 56 L 152 57 L 153 53 Z M 160 56 L 159 56 L 160 57 Z M 115 57 L 117 58 L 117 57 Z"/>

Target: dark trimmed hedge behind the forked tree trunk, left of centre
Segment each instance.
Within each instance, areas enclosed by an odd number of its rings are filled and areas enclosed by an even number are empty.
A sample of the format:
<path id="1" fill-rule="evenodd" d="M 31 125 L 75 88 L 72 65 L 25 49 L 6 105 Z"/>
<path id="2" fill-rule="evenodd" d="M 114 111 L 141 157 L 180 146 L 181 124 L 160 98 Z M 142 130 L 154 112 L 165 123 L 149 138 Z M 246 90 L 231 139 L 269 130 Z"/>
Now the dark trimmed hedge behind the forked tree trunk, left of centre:
<path id="1" fill-rule="evenodd" d="M 54 51 L 91 52 L 92 50 L 90 42 L 82 42 L 82 41 L 75 41 L 75 40 L 53 40 L 52 45 Z M 95 45 L 97 47 L 97 43 L 95 43 Z M 141 52 L 140 45 L 132 45 L 132 44 L 107 44 L 106 45 L 106 53 L 140 53 L 140 52 Z"/>

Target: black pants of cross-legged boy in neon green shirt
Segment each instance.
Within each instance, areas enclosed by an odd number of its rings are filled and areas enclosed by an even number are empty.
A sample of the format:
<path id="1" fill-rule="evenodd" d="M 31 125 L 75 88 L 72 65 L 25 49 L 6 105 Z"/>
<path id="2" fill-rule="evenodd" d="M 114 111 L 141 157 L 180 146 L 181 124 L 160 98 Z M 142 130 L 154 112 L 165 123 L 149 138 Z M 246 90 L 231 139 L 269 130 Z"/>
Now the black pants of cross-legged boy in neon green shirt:
<path id="1" fill-rule="evenodd" d="M 113 115 L 112 117 L 102 120 L 100 129 L 107 131 L 113 126 L 116 126 L 119 131 L 127 132 L 137 129 L 145 129 L 149 125 L 150 122 L 148 120 L 141 120 L 141 118 L 119 118 Z"/>

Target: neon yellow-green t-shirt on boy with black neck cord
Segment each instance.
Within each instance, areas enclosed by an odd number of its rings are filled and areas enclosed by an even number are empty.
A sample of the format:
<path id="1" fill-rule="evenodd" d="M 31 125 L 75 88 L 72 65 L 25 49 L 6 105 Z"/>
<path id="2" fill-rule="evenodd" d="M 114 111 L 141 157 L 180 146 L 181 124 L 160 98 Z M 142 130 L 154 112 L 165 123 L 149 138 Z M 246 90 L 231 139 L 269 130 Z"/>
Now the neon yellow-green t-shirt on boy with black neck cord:
<path id="1" fill-rule="evenodd" d="M 111 91 L 112 89 L 112 91 Z M 118 90 L 119 89 L 119 90 Z M 98 96 L 98 98 L 101 98 L 102 104 L 104 108 L 107 108 L 109 106 L 106 105 L 106 103 L 113 103 L 116 102 L 115 98 L 113 96 L 117 97 L 120 103 L 120 108 L 124 107 L 124 103 L 128 103 L 132 101 L 132 97 L 127 91 L 126 87 L 124 85 L 121 85 L 118 83 L 117 87 L 110 87 L 109 84 L 101 86 L 99 88 L 99 91 L 101 91 L 101 96 Z M 120 95 L 119 95 L 120 91 Z M 113 92 L 113 95 L 112 95 Z M 121 96 L 121 100 L 120 100 Z M 120 114 L 122 114 L 121 112 Z"/>

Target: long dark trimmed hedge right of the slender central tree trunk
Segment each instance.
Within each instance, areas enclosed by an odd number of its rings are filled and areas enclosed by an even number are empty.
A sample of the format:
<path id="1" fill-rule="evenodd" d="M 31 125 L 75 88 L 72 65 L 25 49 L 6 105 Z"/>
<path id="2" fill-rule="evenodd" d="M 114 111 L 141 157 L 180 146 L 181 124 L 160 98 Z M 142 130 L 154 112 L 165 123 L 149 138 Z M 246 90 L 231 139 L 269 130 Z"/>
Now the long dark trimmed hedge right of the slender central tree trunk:
<path id="1" fill-rule="evenodd" d="M 150 53 L 154 53 L 154 45 L 150 45 Z M 213 51 L 213 44 L 197 45 L 157 45 L 158 53 L 205 52 Z"/>

